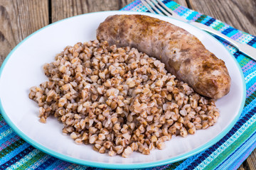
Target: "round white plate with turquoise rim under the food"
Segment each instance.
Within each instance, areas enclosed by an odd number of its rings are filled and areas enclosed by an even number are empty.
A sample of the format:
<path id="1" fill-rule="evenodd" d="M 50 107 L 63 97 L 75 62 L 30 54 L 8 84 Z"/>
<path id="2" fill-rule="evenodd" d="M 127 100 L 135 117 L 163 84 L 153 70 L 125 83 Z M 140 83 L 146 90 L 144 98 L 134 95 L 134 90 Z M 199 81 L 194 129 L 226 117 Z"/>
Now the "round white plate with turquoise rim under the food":
<path id="1" fill-rule="evenodd" d="M 231 89 L 227 96 L 217 101 L 220 108 L 218 123 L 196 135 L 173 137 L 166 142 L 166 149 L 154 150 L 149 155 L 134 153 L 131 157 L 109 157 L 92 150 L 92 145 L 75 145 L 62 134 L 63 125 L 55 118 L 39 123 L 38 106 L 28 98 L 29 88 L 38 86 L 47 78 L 42 66 L 53 62 L 55 55 L 67 45 L 96 39 L 99 24 L 113 14 L 134 14 L 129 11 L 105 11 L 87 13 L 67 18 L 46 26 L 19 43 L 4 61 L 0 70 L 1 113 L 18 135 L 43 152 L 68 162 L 112 169 L 132 169 L 159 166 L 190 157 L 218 142 L 235 125 L 245 102 L 245 82 L 241 69 L 233 55 L 208 33 L 165 16 L 140 13 L 174 23 L 196 35 L 210 52 L 225 61 L 230 73 Z"/>

